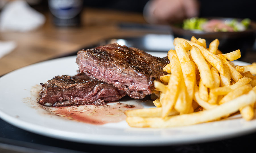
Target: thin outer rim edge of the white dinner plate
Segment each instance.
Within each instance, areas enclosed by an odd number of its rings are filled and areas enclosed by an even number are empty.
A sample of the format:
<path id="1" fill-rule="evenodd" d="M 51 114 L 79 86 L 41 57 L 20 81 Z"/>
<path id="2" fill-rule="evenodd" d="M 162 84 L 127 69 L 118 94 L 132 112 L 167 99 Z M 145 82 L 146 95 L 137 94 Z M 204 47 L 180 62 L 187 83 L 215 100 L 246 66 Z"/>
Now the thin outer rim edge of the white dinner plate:
<path id="1" fill-rule="evenodd" d="M 152 53 L 152 52 L 150 52 L 150 53 Z M 31 65 L 27 65 L 25 67 L 16 69 L 14 71 L 11 71 L 11 72 L 7 73 L 6 75 L 3 75 L 2 77 L 0 77 L 0 80 L 4 79 L 5 77 L 8 77 L 8 75 L 12 75 L 16 71 L 22 71 L 22 69 L 26 69 L 26 68 L 29 68 L 31 66 L 36 66 L 36 65 L 42 64 L 42 63 L 48 63 L 50 61 L 61 60 L 61 59 L 69 59 L 69 58 L 75 58 L 75 57 L 76 56 L 69 56 L 69 57 L 51 59 L 51 60 L 42 61 L 42 62 L 39 62 L 39 63 L 34 63 L 34 64 L 31 64 Z M 241 63 L 244 63 L 244 64 L 249 64 L 249 63 L 246 63 L 246 62 L 243 62 L 243 61 L 238 61 L 238 62 L 241 62 Z M 200 142 L 209 142 L 209 141 L 214 141 L 214 140 L 236 137 L 236 136 L 245 135 L 245 134 L 252 133 L 252 132 L 256 131 L 256 128 L 252 127 L 252 128 L 247 128 L 246 130 L 242 130 L 242 131 L 236 132 L 236 133 L 230 132 L 230 133 L 226 133 L 226 134 L 222 133 L 221 135 L 216 135 L 215 134 L 215 135 L 212 135 L 210 138 L 208 136 L 206 136 L 206 137 L 199 137 L 197 139 L 189 138 L 185 141 L 184 140 L 182 140 L 182 141 L 179 140 L 179 141 L 175 141 L 175 142 L 173 140 L 168 141 L 166 139 L 161 138 L 162 141 L 158 140 L 157 142 L 147 141 L 146 143 L 138 143 L 138 141 L 131 141 L 131 139 L 130 140 L 125 140 L 125 141 L 122 141 L 122 142 L 120 142 L 118 139 L 116 139 L 116 140 L 111 139 L 111 141 L 98 140 L 98 137 L 96 137 L 96 139 L 91 139 L 91 138 L 90 139 L 80 139 L 80 138 L 78 139 L 78 138 L 74 138 L 74 137 L 72 138 L 72 137 L 68 137 L 68 136 L 65 136 L 65 135 L 61 135 L 61 134 L 53 134 L 52 132 L 45 132 L 45 131 L 42 132 L 42 130 L 36 130 L 36 129 L 40 129 L 40 128 L 35 128 L 35 126 L 37 126 L 37 125 L 32 124 L 32 123 L 28 123 L 26 121 L 19 120 L 18 118 L 10 116 L 10 115 L 2 112 L 2 111 L 0 111 L 0 118 L 2 120 L 4 120 L 5 122 L 7 122 L 9 124 L 12 124 L 12 125 L 14 125 L 18 128 L 21 128 L 21 129 L 24 129 L 26 131 L 30 131 L 32 133 L 36 133 L 36 134 L 39 134 L 39 135 L 46 135 L 46 136 L 51 137 L 51 138 L 62 139 L 62 140 L 67 140 L 67 141 L 75 141 L 75 142 L 80 142 L 80 143 L 82 142 L 82 143 L 92 143 L 92 144 L 98 144 L 98 145 L 115 145 L 115 146 L 161 146 L 161 145 L 200 143 Z M 40 127 L 40 126 L 38 126 L 38 127 Z M 49 128 L 49 129 L 51 129 L 51 128 Z M 52 131 L 52 130 L 54 130 L 54 129 L 51 129 L 49 131 Z M 48 131 L 48 130 L 46 130 L 46 131 Z M 63 131 L 60 131 L 60 132 L 63 132 Z"/>

